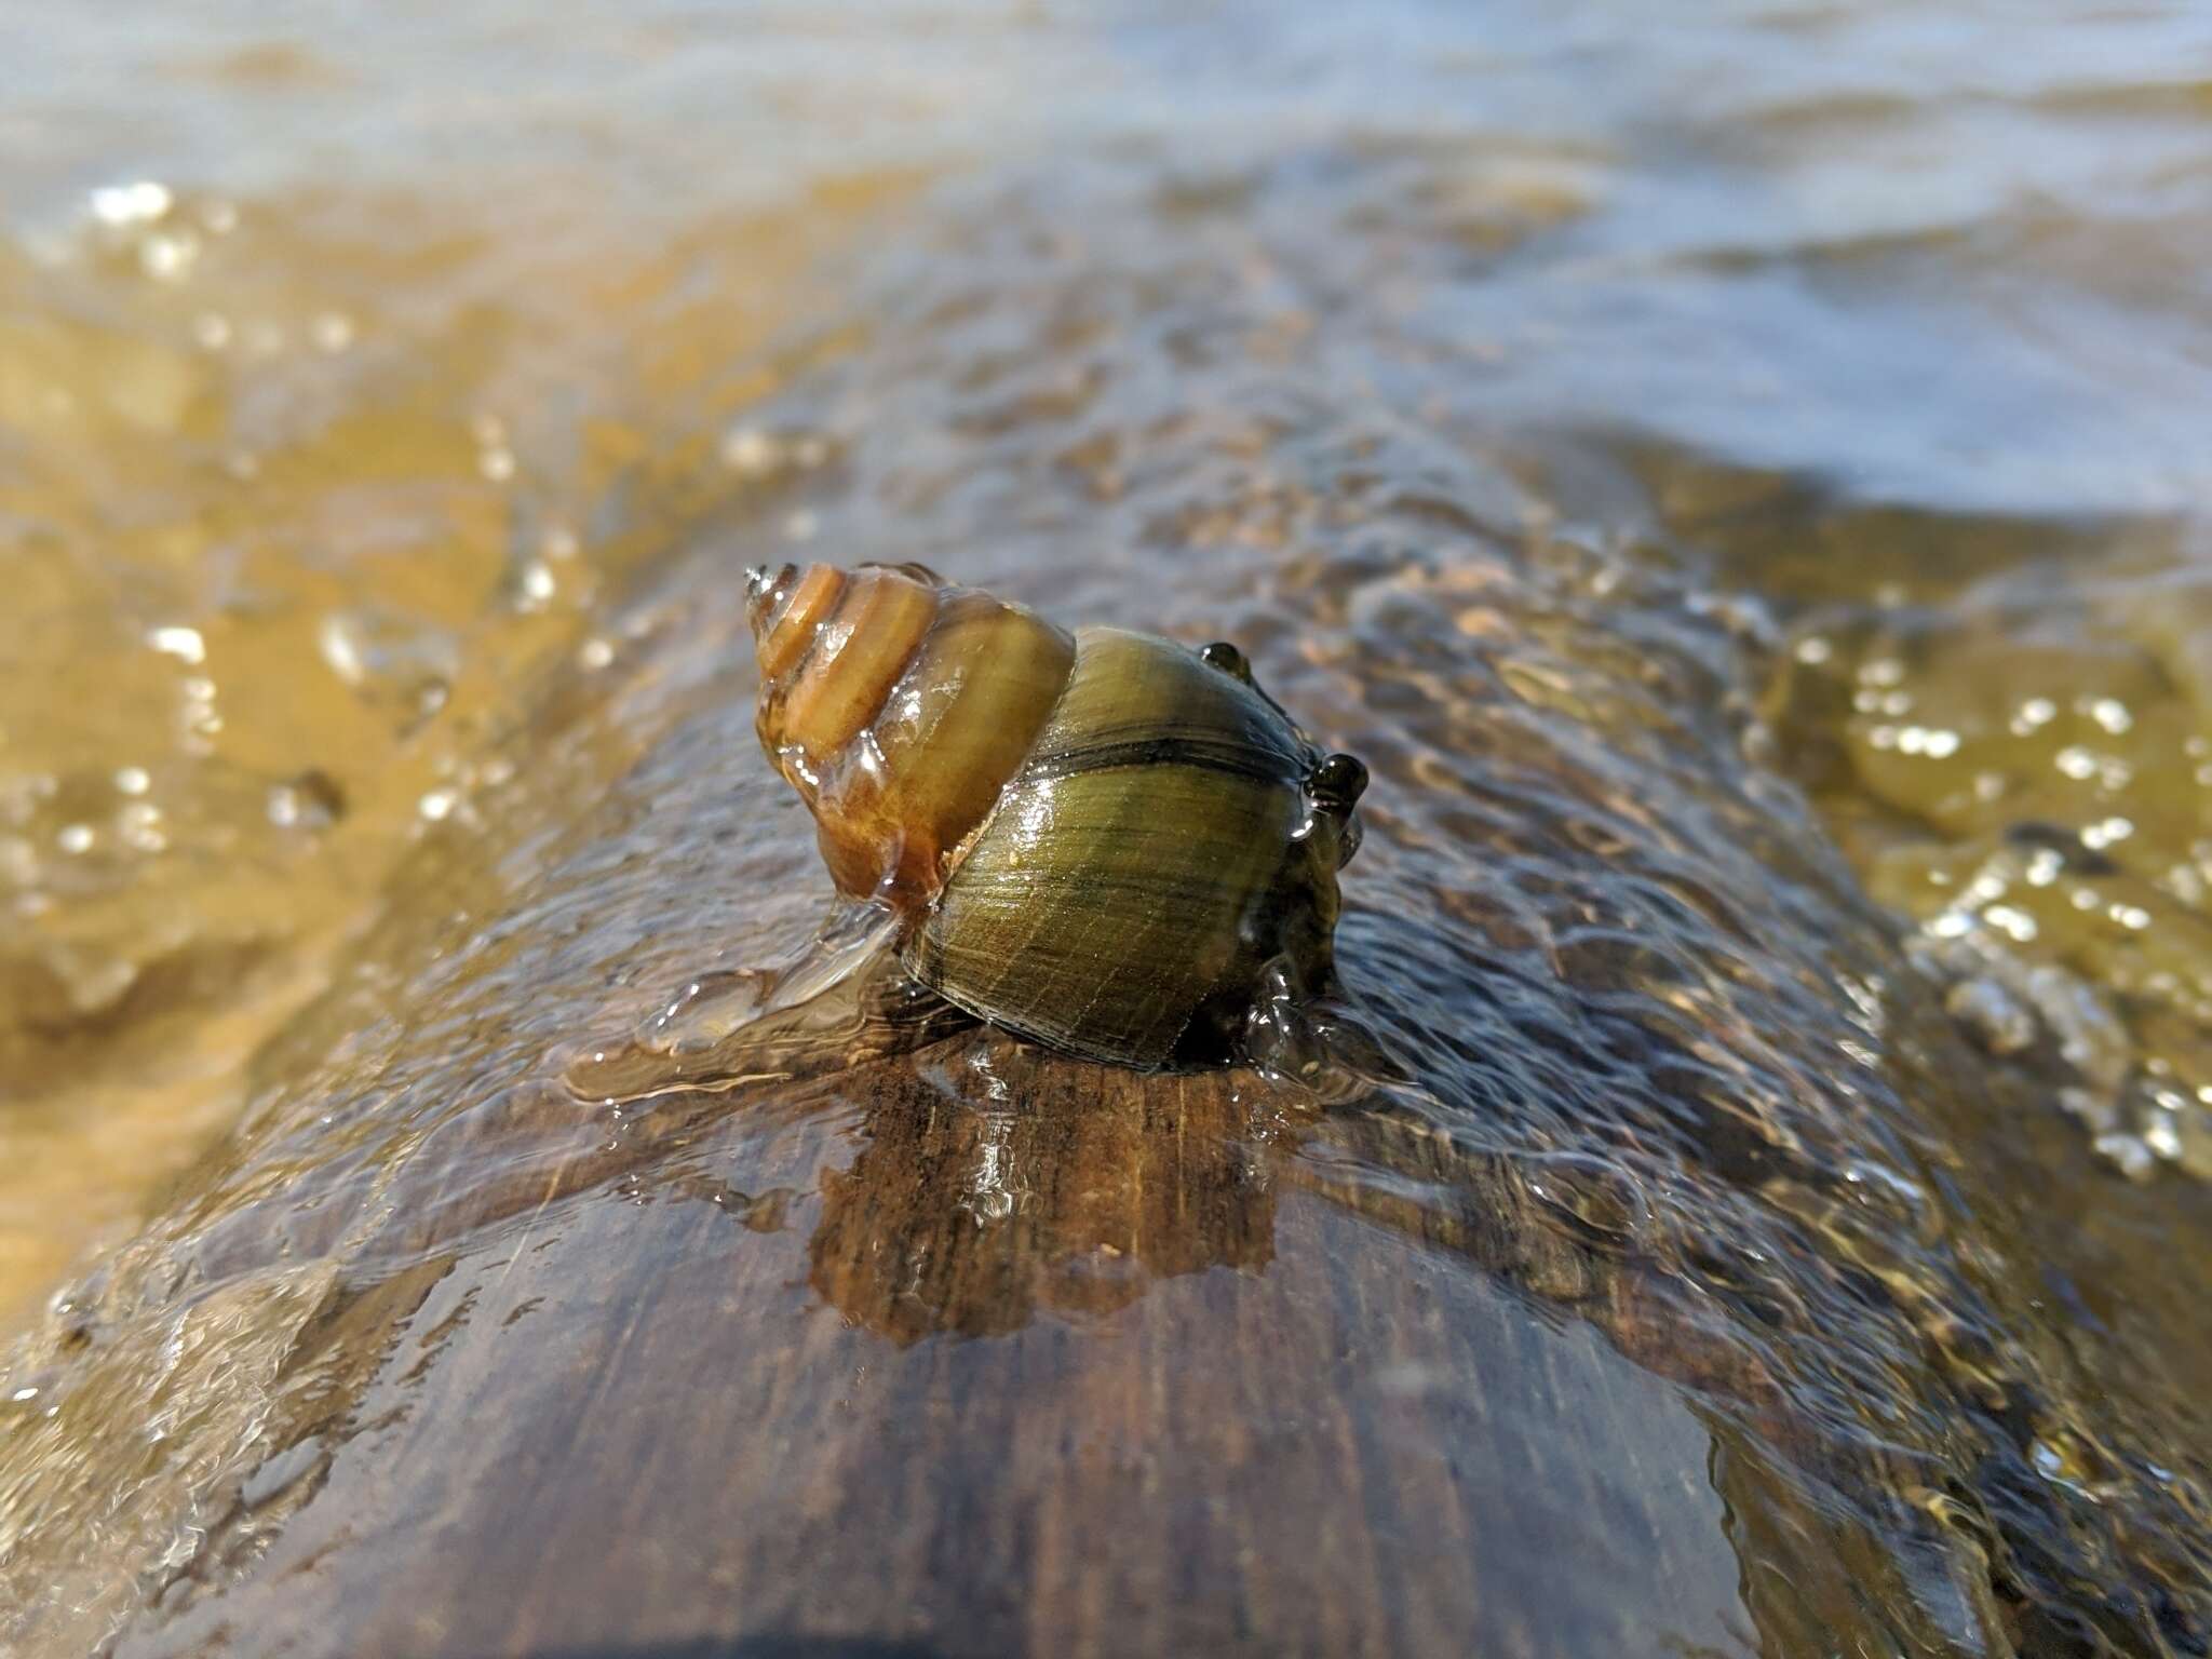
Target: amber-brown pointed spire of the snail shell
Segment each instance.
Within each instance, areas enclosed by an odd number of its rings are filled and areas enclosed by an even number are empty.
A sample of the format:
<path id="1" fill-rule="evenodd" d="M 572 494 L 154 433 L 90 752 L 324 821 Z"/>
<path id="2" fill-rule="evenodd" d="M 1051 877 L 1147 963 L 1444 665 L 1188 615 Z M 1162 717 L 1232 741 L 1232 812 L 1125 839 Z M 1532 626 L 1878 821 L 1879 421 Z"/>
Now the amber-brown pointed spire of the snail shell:
<path id="1" fill-rule="evenodd" d="M 918 914 L 1044 728 L 1075 639 L 916 564 L 752 571 L 745 604 L 761 745 L 832 878 Z"/>

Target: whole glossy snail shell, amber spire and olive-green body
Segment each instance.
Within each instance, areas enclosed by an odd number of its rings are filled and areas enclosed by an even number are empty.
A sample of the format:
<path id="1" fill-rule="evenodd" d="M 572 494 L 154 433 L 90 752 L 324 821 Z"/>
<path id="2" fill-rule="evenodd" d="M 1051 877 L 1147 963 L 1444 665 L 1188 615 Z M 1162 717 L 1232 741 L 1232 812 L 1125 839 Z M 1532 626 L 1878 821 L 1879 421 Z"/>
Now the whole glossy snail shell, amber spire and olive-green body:
<path id="1" fill-rule="evenodd" d="M 920 566 L 752 571 L 759 732 L 916 980 L 1046 1046 L 1230 1057 L 1334 984 L 1367 772 L 1232 646 L 1068 633 Z"/>

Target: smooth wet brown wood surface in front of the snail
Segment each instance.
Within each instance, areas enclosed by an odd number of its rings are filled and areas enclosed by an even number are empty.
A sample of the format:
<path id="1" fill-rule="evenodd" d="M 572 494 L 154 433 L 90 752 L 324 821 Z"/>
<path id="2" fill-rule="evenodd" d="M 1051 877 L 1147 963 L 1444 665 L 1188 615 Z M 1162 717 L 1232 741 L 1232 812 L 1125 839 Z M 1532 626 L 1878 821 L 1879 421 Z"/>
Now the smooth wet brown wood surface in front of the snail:
<path id="1" fill-rule="evenodd" d="M 119 1650 L 1752 1644 L 1683 1398 L 1475 1270 L 1509 1212 L 1425 1239 L 1290 1146 L 1402 1126 L 984 1035 L 668 1119 L 338 1298 L 380 1363 Z"/>

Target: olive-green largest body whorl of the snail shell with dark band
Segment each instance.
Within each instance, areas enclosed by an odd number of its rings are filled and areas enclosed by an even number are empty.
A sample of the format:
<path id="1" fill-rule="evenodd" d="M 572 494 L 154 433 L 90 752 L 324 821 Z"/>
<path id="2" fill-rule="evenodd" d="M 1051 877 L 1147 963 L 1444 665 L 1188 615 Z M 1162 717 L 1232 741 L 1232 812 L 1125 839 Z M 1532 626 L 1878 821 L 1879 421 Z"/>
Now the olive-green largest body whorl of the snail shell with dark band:
<path id="1" fill-rule="evenodd" d="M 1188 646 L 1075 635 L 1075 672 L 907 969 L 1037 1042 L 1133 1066 L 1234 1046 L 1270 962 L 1329 973 L 1338 836 L 1321 752 Z"/>

